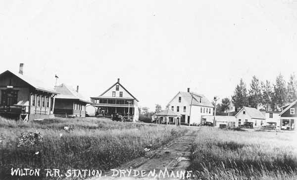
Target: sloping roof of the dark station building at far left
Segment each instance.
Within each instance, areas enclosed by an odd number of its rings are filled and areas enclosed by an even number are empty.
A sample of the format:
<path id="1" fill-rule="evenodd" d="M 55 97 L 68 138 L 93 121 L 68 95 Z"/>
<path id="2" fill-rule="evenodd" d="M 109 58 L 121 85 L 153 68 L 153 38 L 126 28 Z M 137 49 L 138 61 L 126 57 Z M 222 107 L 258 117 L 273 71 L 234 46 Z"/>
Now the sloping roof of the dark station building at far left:
<path id="1" fill-rule="evenodd" d="M 9 70 L 4 71 L 3 73 L 0 74 L 0 76 L 5 75 L 6 73 L 10 73 L 16 77 L 18 77 L 19 79 L 23 80 L 24 82 L 26 82 L 27 84 L 29 84 L 30 86 L 32 86 L 33 88 L 35 88 L 36 90 L 41 90 L 41 91 L 45 91 L 45 92 L 50 92 L 53 94 L 57 94 L 58 92 L 56 92 L 55 90 L 52 90 L 51 88 L 49 88 L 48 86 L 46 86 L 42 81 L 36 80 L 32 77 L 26 76 L 26 75 L 22 75 L 19 73 L 13 73 Z"/>

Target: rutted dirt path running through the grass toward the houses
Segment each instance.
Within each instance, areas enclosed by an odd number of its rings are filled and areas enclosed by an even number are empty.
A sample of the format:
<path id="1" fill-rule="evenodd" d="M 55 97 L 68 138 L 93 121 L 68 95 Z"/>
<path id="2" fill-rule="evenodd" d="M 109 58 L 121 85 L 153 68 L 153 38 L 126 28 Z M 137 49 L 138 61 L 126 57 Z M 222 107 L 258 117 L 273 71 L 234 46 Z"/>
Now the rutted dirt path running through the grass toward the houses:
<path id="1" fill-rule="evenodd" d="M 199 128 L 189 128 L 189 131 L 178 137 L 166 145 L 161 146 L 160 148 L 149 151 L 144 157 L 137 158 L 128 163 L 123 164 L 120 167 L 115 168 L 118 171 L 110 171 L 106 174 L 102 173 L 101 178 L 93 178 L 91 180 L 151 180 L 151 179 L 162 179 L 169 180 L 175 179 L 177 180 L 177 174 L 180 175 L 181 171 L 185 171 L 187 175 L 187 168 L 190 165 L 189 156 L 190 156 L 190 148 L 194 138 L 197 138 L 197 132 Z M 169 173 L 169 177 L 171 175 L 171 171 L 174 172 L 175 176 L 171 176 L 168 178 L 168 174 L 164 176 L 159 175 L 160 170 L 165 172 L 165 168 Z M 119 170 L 122 171 L 122 173 Z M 129 171 L 132 170 L 130 175 Z M 134 171 L 135 170 L 135 171 Z M 145 170 L 146 175 L 149 174 L 149 171 L 155 170 L 156 176 L 141 176 L 141 171 Z M 178 172 L 177 172 L 178 171 Z M 139 176 L 135 176 L 140 173 Z M 112 176 L 118 174 L 117 177 Z M 135 177 L 134 177 L 135 176 Z M 154 178 L 153 178 L 154 177 Z"/>

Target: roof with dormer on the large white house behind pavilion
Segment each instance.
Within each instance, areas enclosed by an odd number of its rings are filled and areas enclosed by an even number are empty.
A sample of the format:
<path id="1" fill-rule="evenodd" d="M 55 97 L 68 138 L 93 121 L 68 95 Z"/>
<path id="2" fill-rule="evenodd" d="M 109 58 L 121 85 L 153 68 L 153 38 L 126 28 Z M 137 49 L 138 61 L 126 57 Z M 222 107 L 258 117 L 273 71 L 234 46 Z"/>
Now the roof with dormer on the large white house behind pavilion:
<path id="1" fill-rule="evenodd" d="M 181 95 L 183 100 L 186 100 L 189 105 L 191 105 L 191 101 L 192 101 L 192 95 L 193 95 L 193 102 L 192 105 L 195 106 L 205 106 L 205 107 L 212 107 L 214 108 L 214 106 L 211 104 L 211 102 L 203 95 L 203 94 L 198 94 L 195 92 L 184 92 L 184 91 L 179 91 L 170 101 L 168 104 L 170 104 L 172 102 L 172 100 L 178 96 Z M 200 103 L 200 98 L 201 98 L 201 103 Z"/>

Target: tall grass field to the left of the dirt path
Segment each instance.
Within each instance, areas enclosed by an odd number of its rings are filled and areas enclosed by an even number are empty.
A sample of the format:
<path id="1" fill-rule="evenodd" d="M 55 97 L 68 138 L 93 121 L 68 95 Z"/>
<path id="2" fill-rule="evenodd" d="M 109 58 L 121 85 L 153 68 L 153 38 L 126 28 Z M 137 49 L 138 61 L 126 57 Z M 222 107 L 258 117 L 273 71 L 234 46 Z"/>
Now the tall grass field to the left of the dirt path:
<path id="1" fill-rule="evenodd" d="M 28 123 L 0 119 L 0 177 L 10 180 L 11 167 L 109 170 L 142 156 L 149 144 L 157 148 L 185 131 L 173 126 L 85 118 Z M 42 141 L 18 147 L 21 133 L 28 132 L 39 132 Z"/>

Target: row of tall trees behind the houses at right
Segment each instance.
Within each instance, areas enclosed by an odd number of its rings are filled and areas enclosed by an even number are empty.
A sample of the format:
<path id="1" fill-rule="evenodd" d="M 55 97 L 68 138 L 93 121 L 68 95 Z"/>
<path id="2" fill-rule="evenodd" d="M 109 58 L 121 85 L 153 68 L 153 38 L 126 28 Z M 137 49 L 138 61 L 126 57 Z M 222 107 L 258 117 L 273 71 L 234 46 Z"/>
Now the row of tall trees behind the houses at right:
<path id="1" fill-rule="evenodd" d="M 241 79 L 232 96 L 233 105 L 239 109 L 248 106 L 267 111 L 281 110 L 280 107 L 295 100 L 297 100 L 297 78 L 294 73 L 290 75 L 288 82 L 282 74 L 279 74 L 273 84 L 268 80 L 260 81 L 253 76 L 248 90 L 246 83 Z"/>

